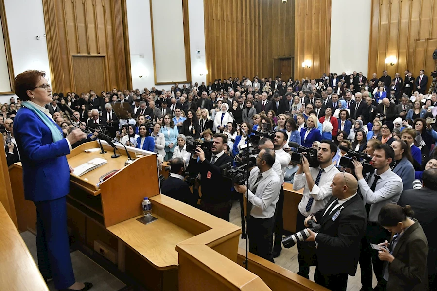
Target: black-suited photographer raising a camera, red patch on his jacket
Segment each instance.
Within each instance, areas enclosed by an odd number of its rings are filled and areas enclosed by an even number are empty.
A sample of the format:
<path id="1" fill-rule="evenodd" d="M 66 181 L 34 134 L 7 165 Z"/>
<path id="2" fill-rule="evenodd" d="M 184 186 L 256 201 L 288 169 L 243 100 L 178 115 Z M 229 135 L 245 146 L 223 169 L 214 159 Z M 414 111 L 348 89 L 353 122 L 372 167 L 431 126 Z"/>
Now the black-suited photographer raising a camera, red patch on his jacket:
<path id="1" fill-rule="evenodd" d="M 229 213 L 232 207 L 232 182 L 224 179 L 220 171 L 221 165 L 233 161 L 232 157 L 223 151 L 226 143 L 226 135 L 214 134 L 211 153 L 205 153 L 200 147 L 197 147 L 196 154 L 193 155 L 187 172 L 191 174 L 200 173 L 200 185 L 202 186 L 201 209 L 229 221 Z M 199 157 L 198 162 L 197 157 Z"/>

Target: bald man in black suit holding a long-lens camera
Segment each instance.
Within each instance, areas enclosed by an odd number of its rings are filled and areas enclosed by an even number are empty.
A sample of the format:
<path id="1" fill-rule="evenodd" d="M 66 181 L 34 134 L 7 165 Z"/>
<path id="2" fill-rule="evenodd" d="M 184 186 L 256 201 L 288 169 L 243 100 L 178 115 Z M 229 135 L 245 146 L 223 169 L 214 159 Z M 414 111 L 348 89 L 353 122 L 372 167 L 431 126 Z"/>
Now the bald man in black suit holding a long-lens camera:
<path id="1" fill-rule="evenodd" d="M 346 291 L 348 275 L 354 276 L 360 256 L 367 214 L 357 194 L 358 182 L 349 173 L 338 173 L 331 184 L 332 198 L 325 208 L 308 216 L 321 225 L 319 233 L 308 229 L 306 241 L 317 243 L 315 282 L 330 290 Z"/>

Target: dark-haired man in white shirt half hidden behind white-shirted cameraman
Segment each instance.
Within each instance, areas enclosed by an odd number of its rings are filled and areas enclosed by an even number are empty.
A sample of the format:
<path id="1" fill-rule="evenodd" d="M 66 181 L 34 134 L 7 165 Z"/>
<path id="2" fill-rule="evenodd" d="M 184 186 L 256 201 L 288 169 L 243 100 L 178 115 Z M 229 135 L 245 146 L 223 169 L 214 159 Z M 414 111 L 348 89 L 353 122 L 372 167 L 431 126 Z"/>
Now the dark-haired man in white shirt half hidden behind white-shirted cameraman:
<path id="1" fill-rule="evenodd" d="M 276 160 L 279 160 L 282 170 L 282 175 L 280 176 L 280 192 L 279 192 L 279 200 L 276 205 L 276 214 L 275 214 L 275 240 L 273 247 L 273 257 L 278 257 L 282 250 L 282 234 L 284 223 L 282 221 L 282 208 L 284 206 L 284 188 L 282 188 L 282 184 L 284 183 L 285 176 L 285 168 L 290 164 L 291 155 L 287 153 L 283 147 L 287 144 L 288 135 L 285 131 L 275 132 L 275 138 L 273 139 L 273 146 L 275 148 Z"/>

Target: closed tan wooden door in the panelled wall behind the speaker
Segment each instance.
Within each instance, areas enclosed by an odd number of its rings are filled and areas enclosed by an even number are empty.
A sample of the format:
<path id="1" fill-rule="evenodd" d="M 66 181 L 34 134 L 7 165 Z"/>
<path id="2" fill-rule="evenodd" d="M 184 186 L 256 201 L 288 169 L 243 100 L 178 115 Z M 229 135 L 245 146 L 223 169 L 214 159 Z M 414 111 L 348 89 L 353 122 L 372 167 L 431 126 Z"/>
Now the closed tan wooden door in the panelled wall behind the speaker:
<path id="1" fill-rule="evenodd" d="M 105 57 L 101 56 L 73 56 L 73 88 L 76 94 L 94 90 L 97 95 L 107 91 Z"/>

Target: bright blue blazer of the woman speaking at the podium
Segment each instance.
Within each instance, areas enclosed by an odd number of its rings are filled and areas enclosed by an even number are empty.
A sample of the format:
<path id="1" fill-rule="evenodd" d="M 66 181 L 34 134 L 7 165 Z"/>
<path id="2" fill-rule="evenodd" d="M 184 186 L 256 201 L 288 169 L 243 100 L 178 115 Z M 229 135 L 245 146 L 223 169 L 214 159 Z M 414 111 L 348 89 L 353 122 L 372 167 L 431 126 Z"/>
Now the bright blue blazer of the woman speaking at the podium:
<path id="1" fill-rule="evenodd" d="M 66 196 L 70 192 L 67 140 L 53 142 L 49 127 L 25 107 L 15 116 L 14 135 L 23 166 L 24 198 L 38 202 Z"/>

